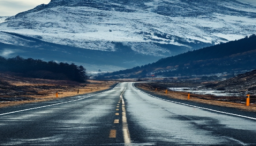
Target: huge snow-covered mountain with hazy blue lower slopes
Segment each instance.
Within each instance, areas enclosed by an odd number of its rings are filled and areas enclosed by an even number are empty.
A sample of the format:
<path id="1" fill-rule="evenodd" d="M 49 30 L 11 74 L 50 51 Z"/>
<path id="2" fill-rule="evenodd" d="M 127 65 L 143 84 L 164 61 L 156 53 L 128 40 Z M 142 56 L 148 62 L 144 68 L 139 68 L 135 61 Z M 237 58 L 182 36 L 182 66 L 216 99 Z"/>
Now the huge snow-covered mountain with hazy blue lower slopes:
<path id="1" fill-rule="evenodd" d="M 254 0 L 51 0 L 0 22 L 0 49 L 5 57 L 117 70 L 244 38 L 255 28 Z"/>

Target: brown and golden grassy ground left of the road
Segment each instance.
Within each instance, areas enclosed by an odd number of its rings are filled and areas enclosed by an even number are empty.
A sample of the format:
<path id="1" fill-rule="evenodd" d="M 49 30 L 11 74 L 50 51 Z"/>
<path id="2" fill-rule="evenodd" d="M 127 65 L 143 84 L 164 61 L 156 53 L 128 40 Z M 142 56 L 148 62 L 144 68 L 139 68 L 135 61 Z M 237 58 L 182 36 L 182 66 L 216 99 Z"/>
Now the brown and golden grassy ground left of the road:
<path id="1" fill-rule="evenodd" d="M 115 81 L 74 81 L 23 78 L 0 73 L 0 107 L 81 95 L 110 88 Z M 79 93 L 77 90 L 79 89 Z"/>

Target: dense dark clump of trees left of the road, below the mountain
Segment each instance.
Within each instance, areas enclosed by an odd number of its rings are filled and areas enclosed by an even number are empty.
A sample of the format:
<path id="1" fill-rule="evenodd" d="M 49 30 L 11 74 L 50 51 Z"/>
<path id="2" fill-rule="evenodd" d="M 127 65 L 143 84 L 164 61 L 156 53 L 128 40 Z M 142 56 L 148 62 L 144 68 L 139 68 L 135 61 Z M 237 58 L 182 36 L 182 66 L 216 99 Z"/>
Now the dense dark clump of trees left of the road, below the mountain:
<path id="1" fill-rule="evenodd" d="M 20 56 L 14 58 L 0 57 L 0 71 L 14 72 L 23 77 L 42 78 L 51 80 L 72 80 L 85 82 L 86 69 L 81 65 L 42 61 L 41 59 L 24 59 Z"/>

